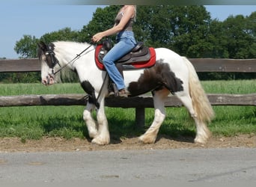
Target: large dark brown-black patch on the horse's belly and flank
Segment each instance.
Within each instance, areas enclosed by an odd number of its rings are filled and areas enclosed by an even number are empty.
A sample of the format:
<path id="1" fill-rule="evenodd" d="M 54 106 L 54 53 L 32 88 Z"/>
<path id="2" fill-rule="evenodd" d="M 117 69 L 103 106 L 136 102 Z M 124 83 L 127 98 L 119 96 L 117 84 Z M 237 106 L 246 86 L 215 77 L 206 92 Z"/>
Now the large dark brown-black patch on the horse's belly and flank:
<path id="1" fill-rule="evenodd" d="M 138 96 L 148 91 L 157 91 L 167 88 L 172 94 L 183 91 L 183 82 L 171 71 L 167 63 L 156 61 L 156 65 L 145 69 L 138 82 L 129 83 L 128 91 L 131 96 Z"/>

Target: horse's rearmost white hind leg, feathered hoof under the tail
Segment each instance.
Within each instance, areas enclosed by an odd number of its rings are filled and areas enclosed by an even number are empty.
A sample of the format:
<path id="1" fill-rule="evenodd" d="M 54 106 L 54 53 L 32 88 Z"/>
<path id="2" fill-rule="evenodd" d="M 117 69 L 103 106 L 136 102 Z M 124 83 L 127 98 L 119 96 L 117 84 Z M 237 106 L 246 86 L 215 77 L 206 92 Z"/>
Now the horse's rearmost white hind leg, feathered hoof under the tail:
<path id="1" fill-rule="evenodd" d="M 195 120 L 196 126 L 196 136 L 195 136 L 195 143 L 204 144 L 207 142 L 207 139 L 210 138 L 210 130 L 207 128 L 207 125 L 204 121 L 198 120 L 198 114 L 196 114 L 193 105 L 192 99 L 188 93 L 180 92 L 176 94 L 177 98 L 183 103 L 183 105 L 188 109 L 189 114 Z"/>

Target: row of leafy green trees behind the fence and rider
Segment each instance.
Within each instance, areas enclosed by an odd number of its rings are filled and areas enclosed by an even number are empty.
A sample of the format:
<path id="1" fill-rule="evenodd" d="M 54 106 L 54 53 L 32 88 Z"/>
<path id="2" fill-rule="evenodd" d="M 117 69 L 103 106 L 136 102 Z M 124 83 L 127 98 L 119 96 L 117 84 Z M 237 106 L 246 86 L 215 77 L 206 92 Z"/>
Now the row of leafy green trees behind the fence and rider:
<path id="1" fill-rule="evenodd" d="M 91 37 L 112 28 L 121 6 L 98 7 L 80 31 L 63 28 L 39 39 L 24 35 L 16 42 L 21 58 L 37 57 L 37 42 L 55 40 L 91 41 Z M 165 47 L 188 58 L 256 58 L 256 12 L 250 16 L 229 16 L 223 22 L 211 19 L 204 6 L 137 6 L 135 38 L 146 46 Z M 115 36 L 109 37 L 115 41 Z M 255 78 L 239 73 L 199 73 L 202 79 Z"/>

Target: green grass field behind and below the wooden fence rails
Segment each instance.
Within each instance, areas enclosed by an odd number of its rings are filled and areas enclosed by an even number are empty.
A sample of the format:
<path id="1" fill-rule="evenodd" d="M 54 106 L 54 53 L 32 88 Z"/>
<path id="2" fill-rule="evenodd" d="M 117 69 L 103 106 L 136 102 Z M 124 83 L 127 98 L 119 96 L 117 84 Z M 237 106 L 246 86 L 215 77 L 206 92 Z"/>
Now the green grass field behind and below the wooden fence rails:
<path id="1" fill-rule="evenodd" d="M 255 80 L 202 82 L 207 93 L 255 93 Z M 78 83 L 0 84 L 0 95 L 83 93 Z M 85 138 L 88 132 L 82 119 L 84 106 L 29 106 L 0 108 L 0 137 L 40 139 L 43 136 Z M 213 135 L 232 136 L 256 133 L 256 107 L 213 106 L 216 118 L 209 124 Z M 112 138 L 133 137 L 143 133 L 134 128 L 134 108 L 106 108 Z M 146 108 L 146 128 L 153 121 L 153 108 Z M 195 136 L 195 124 L 185 108 L 167 108 L 167 117 L 160 134 Z"/>

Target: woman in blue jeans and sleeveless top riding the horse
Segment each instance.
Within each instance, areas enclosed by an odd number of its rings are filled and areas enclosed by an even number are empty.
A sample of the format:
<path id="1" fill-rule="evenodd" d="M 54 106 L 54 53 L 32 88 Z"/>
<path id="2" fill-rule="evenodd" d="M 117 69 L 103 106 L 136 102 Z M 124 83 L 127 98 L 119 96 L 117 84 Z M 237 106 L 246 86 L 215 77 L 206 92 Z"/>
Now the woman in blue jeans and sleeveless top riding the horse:
<path id="1" fill-rule="evenodd" d="M 115 25 L 106 31 L 94 34 L 91 38 L 94 42 L 100 41 L 103 37 L 113 34 L 117 35 L 117 43 L 103 58 L 103 64 L 109 73 L 109 77 L 117 85 L 119 96 L 127 96 L 127 90 L 124 85 L 124 79 L 115 67 L 115 61 L 130 52 L 136 45 L 135 37 L 132 31 L 132 25 L 135 21 L 136 6 L 124 5 L 115 17 Z"/>

